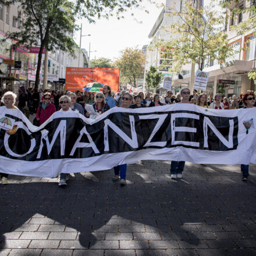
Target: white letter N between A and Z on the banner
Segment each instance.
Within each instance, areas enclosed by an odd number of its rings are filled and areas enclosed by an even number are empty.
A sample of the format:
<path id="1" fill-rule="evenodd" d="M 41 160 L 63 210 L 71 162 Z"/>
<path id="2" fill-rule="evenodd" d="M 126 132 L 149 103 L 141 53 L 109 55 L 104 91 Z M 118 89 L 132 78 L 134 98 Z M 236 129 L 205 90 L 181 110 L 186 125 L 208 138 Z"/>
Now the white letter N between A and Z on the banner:
<path id="1" fill-rule="evenodd" d="M 135 121 L 134 116 L 129 116 L 130 119 L 130 129 L 131 129 L 131 138 L 127 136 L 118 126 L 116 126 L 111 120 L 106 119 L 104 121 L 104 151 L 109 151 L 109 142 L 108 142 L 108 126 L 111 127 L 116 134 L 118 134 L 123 140 L 126 141 L 132 148 L 138 148 L 137 133 L 135 131 Z"/>

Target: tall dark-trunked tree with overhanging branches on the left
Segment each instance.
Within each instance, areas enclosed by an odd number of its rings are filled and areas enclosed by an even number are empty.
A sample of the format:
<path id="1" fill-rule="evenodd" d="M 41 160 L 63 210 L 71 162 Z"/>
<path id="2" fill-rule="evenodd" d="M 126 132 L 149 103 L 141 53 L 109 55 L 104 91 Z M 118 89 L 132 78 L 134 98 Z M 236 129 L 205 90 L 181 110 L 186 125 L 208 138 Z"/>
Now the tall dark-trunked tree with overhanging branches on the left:
<path id="1" fill-rule="evenodd" d="M 35 87 L 39 83 L 42 52 L 46 48 L 61 49 L 74 56 L 77 49 L 72 35 L 79 29 L 75 19 L 85 17 L 88 22 L 95 22 L 98 17 L 117 16 L 131 6 L 138 8 L 141 0 L 0 0 L 4 5 L 19 2 L 20 31 L 6 33 L 17 45 L 27 48 L 39 45 Z"/>

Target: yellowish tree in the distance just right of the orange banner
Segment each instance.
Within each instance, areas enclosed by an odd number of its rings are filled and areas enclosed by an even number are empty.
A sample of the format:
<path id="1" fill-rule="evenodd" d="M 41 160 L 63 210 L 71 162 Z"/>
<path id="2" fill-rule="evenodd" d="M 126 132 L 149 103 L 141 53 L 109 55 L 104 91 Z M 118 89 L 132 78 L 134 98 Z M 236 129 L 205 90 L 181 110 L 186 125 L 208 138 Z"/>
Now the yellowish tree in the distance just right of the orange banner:
<path id="1" fill-rule="evenodd" d="M 130 83 L 136 87 L 137 80 L 144 71 L 145 56 L 138 48 L 126 48 L 121 51 L 121 56 L 114 63 L 120 69 L 119 84 Z"/>

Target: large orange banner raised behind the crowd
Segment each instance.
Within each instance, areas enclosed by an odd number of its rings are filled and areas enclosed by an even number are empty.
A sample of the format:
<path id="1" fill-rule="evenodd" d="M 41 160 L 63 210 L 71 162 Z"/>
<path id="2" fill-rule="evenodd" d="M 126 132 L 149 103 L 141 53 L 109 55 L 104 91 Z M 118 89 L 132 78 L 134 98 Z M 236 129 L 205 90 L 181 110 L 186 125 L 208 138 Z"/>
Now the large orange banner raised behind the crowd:
<path id="1" fill-rule="evenodd" d="M 82 90 L 88 83 L 101 83 L 118 91 L 120 69 L 104 69 L 99 67 L 66 67 L 65 89 Z"/>

